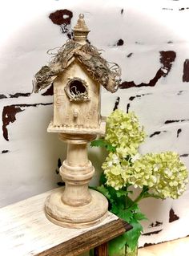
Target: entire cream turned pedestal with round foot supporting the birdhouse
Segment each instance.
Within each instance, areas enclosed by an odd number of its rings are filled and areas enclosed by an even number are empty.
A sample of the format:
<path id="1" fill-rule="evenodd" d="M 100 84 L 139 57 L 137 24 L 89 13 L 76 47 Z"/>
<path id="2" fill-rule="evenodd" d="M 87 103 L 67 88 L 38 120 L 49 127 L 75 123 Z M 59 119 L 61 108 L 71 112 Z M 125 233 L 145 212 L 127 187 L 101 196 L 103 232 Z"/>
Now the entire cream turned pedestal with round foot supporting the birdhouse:
<path id="1" fill-rule="evenodd" d="M 82 228 L 93 226 L 107 214 L 107 199 L 88 189 L 94 167 L 87 157 L 87 143 L 96 135 L 59 134 L 67 143 L 66 161 L 60 168 L 65 187 L 47 197 L 46 217 L 59 226 Z"/>

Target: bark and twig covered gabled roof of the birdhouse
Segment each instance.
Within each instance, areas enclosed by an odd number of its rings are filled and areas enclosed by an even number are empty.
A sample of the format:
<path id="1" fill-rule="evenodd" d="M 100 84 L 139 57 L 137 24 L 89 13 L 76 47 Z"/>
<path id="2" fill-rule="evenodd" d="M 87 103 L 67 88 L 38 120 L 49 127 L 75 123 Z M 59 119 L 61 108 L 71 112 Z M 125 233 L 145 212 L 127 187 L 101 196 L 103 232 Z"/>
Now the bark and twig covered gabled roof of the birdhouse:
<path id="1" fill-rule="evenodd" d="M 82 45 L 74 40 L 68 40 L 59 48 L 50 63 L 43 66 L 34 75 L 34 92 L 38 92 L 53 83 L 54 79 L 62 71 L 65 71 L 75 59 L 85 67 L 90 77 L 102 84 L 107 91 L 115 92 L 117 90 L 121 75 L 119 66 L 115 63 L 108 63 L 101 56 L 101 52 L 90 43 L 86 42 Z"/>

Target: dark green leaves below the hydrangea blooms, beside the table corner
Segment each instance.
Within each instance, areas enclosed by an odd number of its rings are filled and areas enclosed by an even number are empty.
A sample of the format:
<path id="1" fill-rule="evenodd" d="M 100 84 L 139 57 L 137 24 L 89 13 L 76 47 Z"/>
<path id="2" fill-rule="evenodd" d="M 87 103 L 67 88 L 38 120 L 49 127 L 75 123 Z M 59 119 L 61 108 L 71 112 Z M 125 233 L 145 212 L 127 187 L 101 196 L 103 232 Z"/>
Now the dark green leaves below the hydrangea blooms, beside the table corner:
<path id="1" fill-rule="evenodd" d="M 109 255 L 115 256 L 119 254 L 119 250 L 125 245 L 129 246 L 131 250 L 135 250 L 135 247 L 138 245 L 139 236 L 143 231 L 140 221 L 146 220 L 147 217 L 140 212 L 139 205 L 128 197 L 128 193 L 131 192 L 129 192 L 127 188 L 117 191 L 111 186 L 104 184 L 96 189 L 107 197 L 110 205 L 109 210 L 133 226 L 132 230 L 127 231 L 125 234 L 109 242 Z"/>

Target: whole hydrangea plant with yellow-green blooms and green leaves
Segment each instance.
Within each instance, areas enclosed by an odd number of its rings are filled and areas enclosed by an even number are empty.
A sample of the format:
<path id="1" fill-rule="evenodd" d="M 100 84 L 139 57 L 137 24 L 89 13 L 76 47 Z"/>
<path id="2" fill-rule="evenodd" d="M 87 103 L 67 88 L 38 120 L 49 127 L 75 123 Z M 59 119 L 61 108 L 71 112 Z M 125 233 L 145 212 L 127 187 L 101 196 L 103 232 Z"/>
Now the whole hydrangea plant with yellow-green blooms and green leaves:
<path id="1" fill-rule="evenodd" d="M 106 136 L 94 140 L 92 147 L 106 148 L 100 185 L 95 188 L 109 201 L 109 210 L 133 227 L 109 242 L 109 255 L 119 254 L 123 246 L 134 251 L 143 232 L 140 221 L 147 217 L 139 209 L 139 201 L 147 197 L 178 198 L 186 189 L 186 166 L 175 152 L 139 154 L 139 144 L 146 135 L 134 112 L 115 110 L 107 118 Z M 139 195 L 131 199 L 132 188 Z"/>

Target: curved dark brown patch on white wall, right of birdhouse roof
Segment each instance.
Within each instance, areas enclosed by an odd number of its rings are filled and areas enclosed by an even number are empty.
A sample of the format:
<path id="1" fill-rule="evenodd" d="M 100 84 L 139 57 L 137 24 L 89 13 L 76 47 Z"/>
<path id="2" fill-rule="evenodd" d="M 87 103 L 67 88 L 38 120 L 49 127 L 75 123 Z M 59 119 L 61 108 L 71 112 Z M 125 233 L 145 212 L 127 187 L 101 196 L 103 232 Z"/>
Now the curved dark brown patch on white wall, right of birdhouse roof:
<path id="1" fill-rule="evenodd" d="M 130 87 L 143 87 L 143 86 L 150 86 L 154 87 L 158 80 L 162 77 L 166 77 L 169 72 L 171 71 L 172 63 L 175 61 L 176 53 L 175 51 L 159 51 L 160 59 L 159 62 L 161 63 L 162 67 L 156 72 L 155 77 L 150 80 L 149 83 L 139 83 L 135 84 L 134 81 L 124 81 L 120 84 L 121 89 L 127 89 Z"/>

